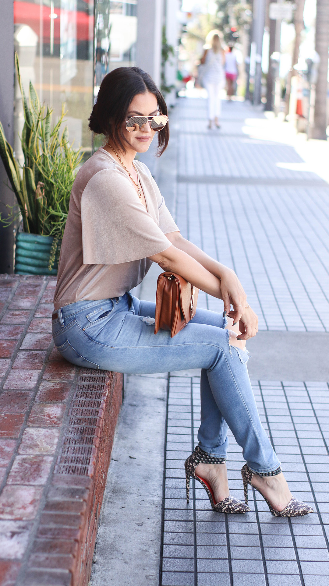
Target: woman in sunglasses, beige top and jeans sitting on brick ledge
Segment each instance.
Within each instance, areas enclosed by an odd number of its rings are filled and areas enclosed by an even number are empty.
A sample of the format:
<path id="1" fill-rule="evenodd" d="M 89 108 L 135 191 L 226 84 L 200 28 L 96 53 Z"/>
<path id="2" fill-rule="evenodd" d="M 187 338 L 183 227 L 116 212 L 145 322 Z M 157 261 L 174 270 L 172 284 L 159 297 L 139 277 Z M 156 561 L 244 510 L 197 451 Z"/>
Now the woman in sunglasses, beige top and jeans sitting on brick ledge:
<path id="1" fill-rule="evenodd" d="M 219 512 L 249 511 L 248 484 L 275 516 L 313 512 L 291 496 L 260 423 L 245 349 L 258 319 L 238 277 L 181 236 L 150 171 L 134 161 L 155 133 L 159 155 L 168 145 L 167 106 L 151 77 L 138 67 L 111 71 L 89 127 L 106 143 L 84 163 L 72 189 L 52 318 L 57 349 L 69 362 L 92 369 L 202 369 L 199 444 L 185 462 L 186 489 L 196 478 Z M 152 262 L 223 299 L 224 313 L 197 309 L 174 338 L 165 330 L 154 335 L 155 304 L 130 294 Z M 228 427 L 246 460 L 246 505 L 229 496 Z"/>

